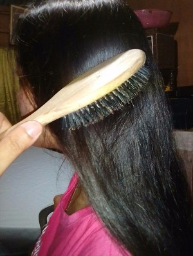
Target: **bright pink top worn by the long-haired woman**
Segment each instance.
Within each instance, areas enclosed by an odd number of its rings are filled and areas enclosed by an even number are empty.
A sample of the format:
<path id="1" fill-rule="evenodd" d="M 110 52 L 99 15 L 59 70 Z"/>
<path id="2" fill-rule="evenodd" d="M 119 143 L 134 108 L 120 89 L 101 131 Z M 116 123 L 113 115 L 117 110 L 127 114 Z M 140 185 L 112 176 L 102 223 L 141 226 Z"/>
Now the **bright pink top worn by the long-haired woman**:
<path id="1" fill-rule="evenodd" d="M 32 256 L 131 256 L 110 237 L 91 206 L 72 215 L 64 212 L 77 180 L 77 174 L 73 175 L 68 190 L 42 231 Z"/>

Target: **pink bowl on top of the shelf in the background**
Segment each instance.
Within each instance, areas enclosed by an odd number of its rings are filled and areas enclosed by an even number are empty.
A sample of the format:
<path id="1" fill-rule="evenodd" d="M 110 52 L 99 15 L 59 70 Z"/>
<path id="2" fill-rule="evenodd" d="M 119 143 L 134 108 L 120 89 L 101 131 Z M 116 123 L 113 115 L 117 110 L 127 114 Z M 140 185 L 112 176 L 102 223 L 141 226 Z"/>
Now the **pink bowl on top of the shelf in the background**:
<path id="1" fill-rule="evenodd" d="M 172 12 L 159 9 L 135 10 L 134 13 L 142 22 L 143 28 L 161 28 L 170 21 Z"/>

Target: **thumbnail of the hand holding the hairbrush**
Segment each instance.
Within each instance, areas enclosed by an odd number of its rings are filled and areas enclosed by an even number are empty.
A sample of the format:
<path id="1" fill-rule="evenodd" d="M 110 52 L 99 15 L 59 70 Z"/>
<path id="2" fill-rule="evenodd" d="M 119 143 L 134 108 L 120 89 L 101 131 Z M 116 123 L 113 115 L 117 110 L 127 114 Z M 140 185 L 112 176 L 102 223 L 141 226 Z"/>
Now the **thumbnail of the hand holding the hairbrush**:
<path id="1" fill-rule="evenodd" d="M 42 132 L 42 126 L 37 121 L 28 121 L 21 124 L 21 126 L 26 130 L 26 133 L 32 138 L 37 138 Z"/>

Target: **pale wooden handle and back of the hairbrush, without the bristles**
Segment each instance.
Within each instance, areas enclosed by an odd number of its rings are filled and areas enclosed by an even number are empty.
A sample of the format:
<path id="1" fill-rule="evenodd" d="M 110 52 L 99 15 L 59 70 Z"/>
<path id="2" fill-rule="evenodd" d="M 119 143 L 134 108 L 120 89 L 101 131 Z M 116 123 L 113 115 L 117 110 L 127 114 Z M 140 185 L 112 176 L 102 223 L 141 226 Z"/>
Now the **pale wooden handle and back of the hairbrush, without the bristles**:
<path id="1" fill-rule="evenodd" d="M 38 121 L 44 126 L 64 115 L 75 112 L 115 90 L 134 75 L 144 63 L 145 53 L 142 50 L 133 49 L 115 55 L 80 75 L 57 92 L 41 108 L 12 128 L 30 120 Z M 0 139 L 1 137 L 0 135 Z"/>

